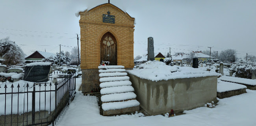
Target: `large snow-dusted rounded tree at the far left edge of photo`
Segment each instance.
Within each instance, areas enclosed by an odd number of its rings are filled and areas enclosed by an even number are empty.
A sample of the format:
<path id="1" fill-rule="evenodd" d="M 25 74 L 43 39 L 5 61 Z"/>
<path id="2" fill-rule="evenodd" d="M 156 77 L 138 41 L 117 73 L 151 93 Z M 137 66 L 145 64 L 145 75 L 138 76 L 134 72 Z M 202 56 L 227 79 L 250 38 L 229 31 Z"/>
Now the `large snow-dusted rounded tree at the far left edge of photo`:
<path id="1" fill-rule="evenodd" d="M 5 65 L 17 65 L 25 59 L 25 54 L 22 49 L 15 44 L 15 42 L 9 40 L 9 37 L 0 40 L 0 56 L 4 59 Z"/>

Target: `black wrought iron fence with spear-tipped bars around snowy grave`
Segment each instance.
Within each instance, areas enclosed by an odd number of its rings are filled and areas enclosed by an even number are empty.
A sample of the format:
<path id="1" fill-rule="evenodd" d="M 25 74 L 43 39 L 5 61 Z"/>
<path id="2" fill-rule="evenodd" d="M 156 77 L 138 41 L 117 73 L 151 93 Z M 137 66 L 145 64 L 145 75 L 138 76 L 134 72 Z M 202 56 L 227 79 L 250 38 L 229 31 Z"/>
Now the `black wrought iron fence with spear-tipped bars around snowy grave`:
<path id="1" fill-rule="evenodd" d="M 76 80 L 71 75 L 54 84 L 2 83 L 0 126 L 34 126 L 50 123 L 54 126 L 75 93 Z"/>

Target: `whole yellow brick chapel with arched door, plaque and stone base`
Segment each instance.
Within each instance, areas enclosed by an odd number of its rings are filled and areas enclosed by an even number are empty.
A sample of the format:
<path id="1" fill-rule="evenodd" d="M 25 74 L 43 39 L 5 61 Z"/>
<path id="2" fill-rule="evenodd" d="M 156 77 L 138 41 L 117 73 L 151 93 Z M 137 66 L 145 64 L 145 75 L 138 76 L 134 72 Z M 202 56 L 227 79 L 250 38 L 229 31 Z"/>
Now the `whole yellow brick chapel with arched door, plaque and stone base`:
<path id="1" fill-rule="evenodd" d="M 98 66 L 134 67 L 134 18 L 113 4 L 80 12 L 82 92 L 99 89 Z"/>

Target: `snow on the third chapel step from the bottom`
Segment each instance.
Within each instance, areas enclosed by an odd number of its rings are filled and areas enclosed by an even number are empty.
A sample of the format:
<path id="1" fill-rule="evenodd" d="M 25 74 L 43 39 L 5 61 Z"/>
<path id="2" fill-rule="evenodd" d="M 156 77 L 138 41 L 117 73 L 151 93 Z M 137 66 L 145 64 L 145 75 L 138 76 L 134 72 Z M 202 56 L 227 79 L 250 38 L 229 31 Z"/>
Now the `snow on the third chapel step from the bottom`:
<path id="1" fill-rule="evenodd" d="M 134 92 L 132 86 L 106 87 L 100 90 L 101 95 Z"/>

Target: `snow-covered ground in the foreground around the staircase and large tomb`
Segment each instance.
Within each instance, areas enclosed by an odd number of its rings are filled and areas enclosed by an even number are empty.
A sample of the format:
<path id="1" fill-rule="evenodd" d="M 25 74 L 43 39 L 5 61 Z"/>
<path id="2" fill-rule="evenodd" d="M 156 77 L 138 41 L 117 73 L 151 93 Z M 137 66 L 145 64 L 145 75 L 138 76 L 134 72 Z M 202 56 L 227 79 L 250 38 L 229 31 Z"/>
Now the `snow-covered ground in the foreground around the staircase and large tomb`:
<path id="1" fill-rule="evenodd" d="M 76 80 L 76 86 L 82 79 Z M 214 108 L 198 107 L 184 111 L 185 115 L 164 117 L 142 113 L 107 117 L 100 115 L 96 96 L 83 96 L 77 91 L 74 100 L 58 120 L 57 126 L 256 126 L 256 91 L 219 99 Z"/>

